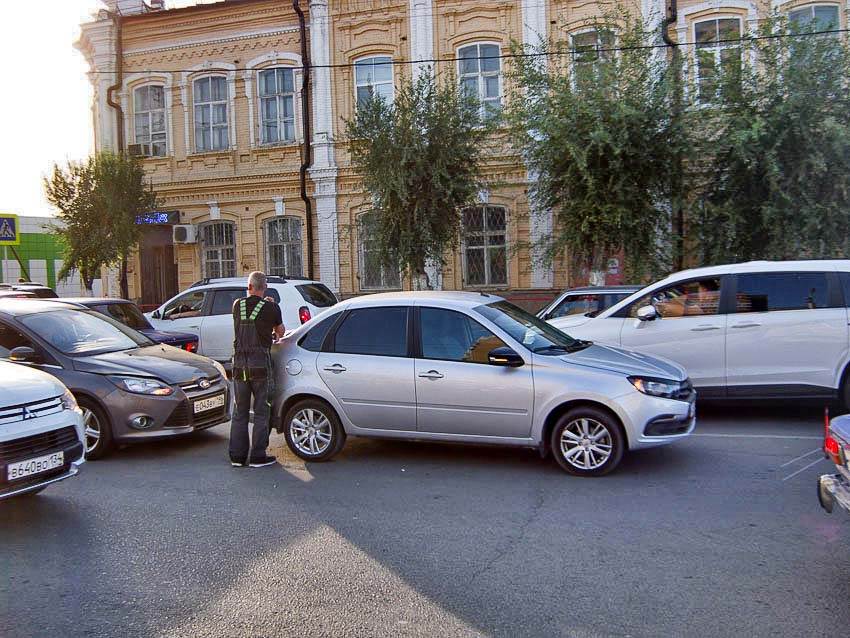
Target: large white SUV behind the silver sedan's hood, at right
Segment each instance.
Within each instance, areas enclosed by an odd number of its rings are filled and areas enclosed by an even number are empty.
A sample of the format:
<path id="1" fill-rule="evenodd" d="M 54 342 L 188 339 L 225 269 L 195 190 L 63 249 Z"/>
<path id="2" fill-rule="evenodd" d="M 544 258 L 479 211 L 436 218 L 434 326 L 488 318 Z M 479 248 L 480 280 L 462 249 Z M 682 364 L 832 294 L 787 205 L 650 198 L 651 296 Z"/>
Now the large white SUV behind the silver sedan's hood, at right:
<path id="1" fill-rule="evenodd" d="M 850 260 L 759 261 L 679 272 L 595 318 L 550 323 L 671 359 L 702 398 L 850 406 L 848 305 Z"/>

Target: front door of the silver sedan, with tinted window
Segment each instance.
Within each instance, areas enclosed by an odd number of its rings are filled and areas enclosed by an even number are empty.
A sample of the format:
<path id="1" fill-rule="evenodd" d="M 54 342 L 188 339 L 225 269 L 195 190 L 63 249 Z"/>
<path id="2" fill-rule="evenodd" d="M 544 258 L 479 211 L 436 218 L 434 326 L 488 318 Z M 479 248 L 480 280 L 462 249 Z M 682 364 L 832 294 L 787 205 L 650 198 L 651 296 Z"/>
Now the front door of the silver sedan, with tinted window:
<path id="1" fill-rule="evenodd" d="M 506 344 L 465 314 L 440 308 L 419 312 L 419 431 L 529 437 L 534 409 L 531 365 L 490 365 L 489 352 Z"/>

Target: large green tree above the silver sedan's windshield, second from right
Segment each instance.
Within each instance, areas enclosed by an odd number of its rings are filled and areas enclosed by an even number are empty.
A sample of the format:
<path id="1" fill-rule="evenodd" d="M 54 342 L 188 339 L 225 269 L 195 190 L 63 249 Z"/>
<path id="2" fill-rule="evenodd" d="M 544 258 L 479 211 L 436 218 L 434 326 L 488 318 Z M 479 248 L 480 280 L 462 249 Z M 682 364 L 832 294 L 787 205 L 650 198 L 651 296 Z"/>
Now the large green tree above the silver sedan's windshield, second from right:
<path id="1" fill-rule="evenodd" d="M 646 46 L 657 28 L 625 11 L 588 26 L 566 41 L 514 44 L 522 55 L 507 119 L 537 175 L 532 202 L 554 213 L 538 254 L 566 254 L 598 273 L 622 252 L 627 275 L 640 278 L 669 267 L 671 184 L 691 148 L 688 111 L 671 108 L 676 65 Z"/>

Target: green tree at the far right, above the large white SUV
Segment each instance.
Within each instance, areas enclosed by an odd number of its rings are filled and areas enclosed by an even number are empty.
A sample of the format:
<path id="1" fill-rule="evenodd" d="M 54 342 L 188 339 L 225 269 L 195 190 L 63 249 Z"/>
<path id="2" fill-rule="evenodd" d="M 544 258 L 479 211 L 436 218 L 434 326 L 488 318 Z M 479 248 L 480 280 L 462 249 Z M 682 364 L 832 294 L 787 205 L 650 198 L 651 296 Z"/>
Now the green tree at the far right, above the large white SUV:
<path id="1" fill-rule="evenodd" d="M 703 263 L 844 257 L 850 248 L 850 49 L 775 18 L 705 111 L 712 171 L 693 215 Z"/>

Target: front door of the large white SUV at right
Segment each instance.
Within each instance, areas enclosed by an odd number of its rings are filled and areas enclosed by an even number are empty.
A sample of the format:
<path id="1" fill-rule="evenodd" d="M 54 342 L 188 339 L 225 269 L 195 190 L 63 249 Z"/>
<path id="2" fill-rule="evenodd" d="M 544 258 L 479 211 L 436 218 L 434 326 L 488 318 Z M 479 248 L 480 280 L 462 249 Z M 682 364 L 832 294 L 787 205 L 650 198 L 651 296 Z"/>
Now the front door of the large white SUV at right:
<path id="1" fill-rule="evenodd" d="M 629 306 L 620 343 L 624 348 L 666 357 L 685 367 L 704 396 L 726 384 L 726 315 L 720 314 L 721 279 L 707 277 L 657 289 Z M 637 311 L 653 305 L 659 318 L 640 321 Z"/>

